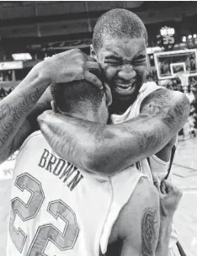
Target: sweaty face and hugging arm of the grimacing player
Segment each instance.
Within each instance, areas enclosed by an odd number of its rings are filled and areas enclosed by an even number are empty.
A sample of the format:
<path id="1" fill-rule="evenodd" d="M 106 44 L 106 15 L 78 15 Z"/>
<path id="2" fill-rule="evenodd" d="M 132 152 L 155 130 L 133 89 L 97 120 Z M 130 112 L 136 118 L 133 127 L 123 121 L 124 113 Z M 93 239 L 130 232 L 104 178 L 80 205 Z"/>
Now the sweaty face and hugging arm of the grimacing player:
<path id="1" fill-rule="evenodd" d="M 111 88 L 111 114 L 121 115 L 133 104 L 146 75 L 144 38 L 111 38 L 106 35 L 92 56 L 104 70 Z M 119 125 L 100 125 L 50 111 L 40 115 L 40 130 L 61 157 L 96 173 L 115 173 L 158 153 L 168 161 L 172 140 L 189 116 L 183 93 L 157 90 L 141 104 L 141 114 Z M 161 152 L 162 151 L 162 152 Z"/>

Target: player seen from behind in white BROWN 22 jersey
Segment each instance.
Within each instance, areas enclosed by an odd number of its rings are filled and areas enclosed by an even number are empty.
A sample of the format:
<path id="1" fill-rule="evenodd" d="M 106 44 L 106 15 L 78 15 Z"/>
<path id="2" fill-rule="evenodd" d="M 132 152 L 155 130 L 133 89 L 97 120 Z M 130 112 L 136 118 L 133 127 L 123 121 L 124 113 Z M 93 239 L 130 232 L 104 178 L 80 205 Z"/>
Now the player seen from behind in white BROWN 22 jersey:
<path id="1" fill-rule="evenodd" d="M 108 88 L 104 93 L 85 81 L 52 88 L 61 115 L 106 124 Z M 119 239 L 120 255 L 164 256 L 171 216 L 164 217 L 159 232 L 158 200 L 135 166 L 112 177 L 87 173 L 58 157 L 36 131 L 24 141 L 13 171 L 7 256 L 99 256 Z"/>

